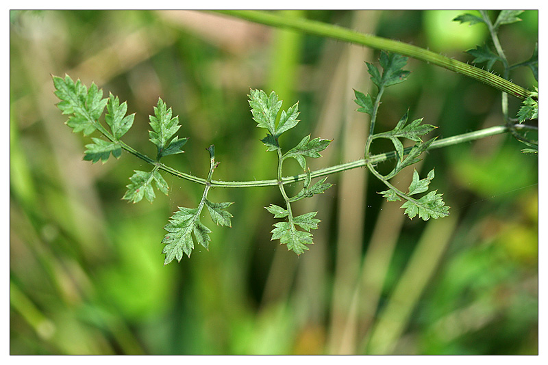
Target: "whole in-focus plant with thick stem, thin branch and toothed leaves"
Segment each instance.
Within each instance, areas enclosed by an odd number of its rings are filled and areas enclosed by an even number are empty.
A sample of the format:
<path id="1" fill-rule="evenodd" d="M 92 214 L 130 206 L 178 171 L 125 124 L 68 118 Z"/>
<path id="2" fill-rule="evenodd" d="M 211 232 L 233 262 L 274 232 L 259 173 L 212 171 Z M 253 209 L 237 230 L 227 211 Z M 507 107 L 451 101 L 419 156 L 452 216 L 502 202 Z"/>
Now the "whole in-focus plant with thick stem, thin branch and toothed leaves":
<path id="1" fill-rule="evenodd" d="M 308 245 L 313 243 L 311 230 L 318 228 L 320 220 L 316 218 L 317 212 L 296 215 L 292 208 L 292 203 L 298 202 L 303 198 L 311 198 L 329 189 L 332 186 L 326 182 L 329 174 L 357 167 L 367 167 L 373 176 L 386 185 L 387 189 L 379 192 L 384 198 L 389 202 L 403 201 L 401 208 L 405 209 L 404 214 L 408 215 L 410 219 L 419 216 L 426 221 L 430 218 L 438 219 L 449 215 L 449 206 L 445 205 L 443 195 L 438 193 L 437 190 L 430 190 L 429 187 L 435 176 L 434 169 L 430 170 L 423 178 L 414 170 L 412 182 L 406 191 L 401 191 L 390 184 L 390 179 L 401 172 L 403 168 L 420 161 L 421 154 L 426 150 L 510 132 L 516 139 L 527 145 L 524 152 L 536 153 L 538 151 L 538 142 L 528 139 L 520 133 L 521 131 L 534 129 L 534 127 L 527 126 L 524 122 L 538 118 L 538 89 L 535 89 L 534 92 L 528 92 L 507 80 L 510 71 L 519 66 L 531 68 L 536 79 L 538 79 L 538 52 L 535 51 L 534 55 L 527 61 L 510 66 L 498 42 L 497 30 L 501 25 L 514 23 L 519 20 L 518 16 L 520 13 L 501 12 L 495 23 L 490 22 L 486 13 L 481 14 L 481 18 L 471 14 L 464 14 L 455 20 L 461 23 L 483 23 L 488 27 L 495 46 L 495 52 L 491 51 L 490 46 L 485 44 L 477 46 L 476 49 L 470 50 L 468 53 L 476 57 L 474 62 L 486 62 L 488 70 L 493 67 L 495 62 L 502 62 L 504 68 L 502 78 L 471 65 L 463 64 L 464 66 L 462 66 L 458 62 L 455 62 L 455 60 L 445 62 L 444 56 L 435 55 L 434 57 L 429 51 L 421 49 L 417 51 L 417 47 L 415 46 L 383 40 L 382 38 L 371 38 L 371 36 L 362 35 L 360 37 L 359 33 L 358 35 L 355 32 L 349 33 L 338 27 L 323 25 L 321 23 L 316 24 L 310 21 L 286 23 L 286 21 L 282 21 L 282 19 L 278 19 L 276 16 L 270 14 L 264 16 L 264 14 L 257 12 L 232 12 L 232 15 L 247 18 L 251 21 L 280 27 L 292 27 L 293 29 L 323 36 L 332 36 L 340 40 L 356 42 L 384 50 L 380 53 L 380 68 L 375 66 L 375 64 L 366 63 L 371 81 L 377 88 L 376 92 L 374 94 L 364 94 L 354 90 L 355 101 L 359 106 L 357 111 L 367 113 L 371 116 L 369 135 L 364 146 L 364 158 L 357 161 L 310 171 L 310 168 L 307 166 L 307 158 L 315 159 L 321 157 L 321 152 L 332 141 L 330 139 L 321 139 L 320 137 L 306 135 L 300 139 L 296 146 L 283 150 L 279 144 L 279 137 L 284 133 L 290 132 L 299 123 L 299 119 L 297 119 L 299 117 L 299 104 L 295 103 L 295 105 L 280 113 L 282 100 L 279 100 L 274 91 L 267 94 L 262 90 L 250 90 L 249 106 L 251 107 L 251 116 L 256 122 L 256 126 L 266 129 L 266 136 L 261 139 L 262 144 L 266 147 L 266 152 L 275 152 L 277 155 L 276 174 L 275 178 L 271 180 L 231 182 L 213 180 L 213 172 L 217 165 L 219 165 L 219 162 L 215 161 L 214 146 L 207 148 L 210 154 L 210 167 L 206 178 L 199 178 L 192 174 L 180 172 L 169 165 L 165 165 L 162 162 L 162 157 L 182 153 L 182 147 L 188 139 L 177 135 L 181 128 L 179 118 L 178 116 L 173 116 L 173 111 L 166 106 L 166 103 L 161 98 L 158 100 L 158 104 L 153 107 L 154 115 L 149 117 L 151 126 L 149 140 L 157 148 L 156 157 L 153 159 L 138 152 L 121 140 L 134 122 L 134 114 L 126 115 L 127 104 L 125 102 L 120 103 L 119 98 L 112 94 L 108 98 L 103 98 L 103 92 L 99 90 L 97 85 L 92 84 L 90 87 L 87 87 L 79 80 L 73 81 L 69 75 L 66 75 L 64 78 L 53 76 L 53 84 L 55 86 L 55 95 L 61 100 L 58 103 L 58 108 L 63 114 L 69 115 L 66 125 L 71 127 L 74 132 L 82 132 L 84 135 L 90 135 L 98 130 L 105 137 L 105 139 L 92 137 L 92 144 L 86 145 L 84 160 L 91 161 L 92 163 L 98 161 L 105 163 L 111 154 L 118 159 L 121 157 L 122 150 L 126 150 L 151 165 L 151 170 L 136 170 L 134 175 L 129 178 L 130 183 L 127 185 L 125 195 L 123 195 L 124 200 L 136 203 L 145 198 L 149 202 L 153 202 L 155 199 L 155 190 L 167 194 L 169 188 L 166 180 L 162 177 L 162 173 L 165 172 L 193 183 L 204 185 L 203 195 L 198 206 L 196 208 L 179 207 L 179 211 L 175 212 L 169 219 L 169 223 L 164 226 L 164 229 L 167 231 L 162 240 L 162 243 L 164 243 L 163 253 L 165 254 L 164 265 L 174 259 L 180 261 L 184 254 L 190 256 L 192 249 L 195 248 L 195 243 L 206 249 L 208 248 L 211 230 L 200 220 L 204 207 L 209 212 L 214 224 L 227 227 L 232 226 L 232 214 L 229 213 L 227 208 L 233 203 L 210 201 L 208 199 L 208 192 L 212 187 L 277 186 L 282 194 L 284 206 L 275 204 L 266 206 L 266 210 L 272 213 L 275 219 L 281 219 L 281 221 L 277 221 L 274 224 L 271 237 L 273 240 L 279 240 L 289 250 L 300 255 L 309 249 Z M 329 29 L 331 29 L 330 34 Z M 502 106 L 505 123 L 501 126 L 444 139 L 436 139 L 434 137 L 425 140 L 425 135 L 434 131 L 436 127 L 423 123 L 422 118 L 410 121 L 412 119 L 410 118 L 410 113 L 412 112 L 408 110 L 401 111 L 403 116 L 399 121 L 395 122 L 392 130 L 375 131 L 378 110 L 386 87 L 402 83 L 410 75 L 409 71 L 403 70 L 407 63 L 407 56 L 455 70 L 466 76 L 482 80 L 503 91 Z M 508 94 L 523 100 L 523 105 L 519 109 L 516 118 L 509 117 Z M 100 122 L 105 109 L 104 124 L 108 128 Z M 371 154 L 371 146 L 373 141 L 377 139 L 388 139 L 393 144 L 394 150 L 384 154 Z M 414 146 L 403 148 L 403 140 L 405 139 L 414 142 Z M 303 173 L 297 176 L 284 176 L 284 161 L 287 159 L 295 159 L 302 168 Z M 377 163 L 388 159 L 395 159 L 395 167 L 388 174 L 381 174 L 376 168 Z M 312 183 L 313 179 L 316 179 L 314 183 Z M 286 185 L 296 182 L 303 183 L 302 189 L 296 195 L 288 195 Z"/>

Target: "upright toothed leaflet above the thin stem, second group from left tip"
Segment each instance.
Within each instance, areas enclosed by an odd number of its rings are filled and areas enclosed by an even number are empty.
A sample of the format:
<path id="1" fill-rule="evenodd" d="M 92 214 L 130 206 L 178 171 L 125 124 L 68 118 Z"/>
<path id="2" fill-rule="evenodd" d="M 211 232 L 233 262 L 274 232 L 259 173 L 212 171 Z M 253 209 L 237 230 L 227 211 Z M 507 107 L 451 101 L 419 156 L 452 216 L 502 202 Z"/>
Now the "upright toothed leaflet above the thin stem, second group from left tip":
<path id="1" fill-rule="evenodd" d="M 171 108 L 166 107 L 162 98 L 158 98 L 158 106 L 154 107 L 154 116 L 149 116 L 152 131 L 149 131 L 150 141 L 158 148 L 158 159 L 168 154 L 181 153 L 180 148 L 186 143 L 186 138 L 173 137 L 181 126 L 179 117 L 171 118 Z M 168 143 L 169 139 L 171 141 Z"/>

